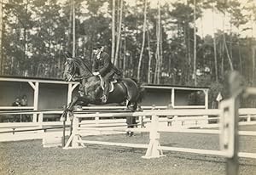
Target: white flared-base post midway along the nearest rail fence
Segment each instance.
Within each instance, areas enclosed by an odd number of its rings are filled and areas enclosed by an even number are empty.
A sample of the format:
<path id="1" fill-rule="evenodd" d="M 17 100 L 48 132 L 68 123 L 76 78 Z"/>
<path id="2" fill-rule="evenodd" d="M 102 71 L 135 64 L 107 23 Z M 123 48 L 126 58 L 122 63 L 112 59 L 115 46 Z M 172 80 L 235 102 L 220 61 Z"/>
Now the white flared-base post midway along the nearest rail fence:
<path id="1" fill-rule="evenodd" d="M 149 133 L 150 142 L 148 144 L 148 150 L 145 159 L 158 158 L 163 156 L 163 151 L 160 150 L 160 133 L 158 132 L 159 116 L 152 116 L 151 129 Z"/>

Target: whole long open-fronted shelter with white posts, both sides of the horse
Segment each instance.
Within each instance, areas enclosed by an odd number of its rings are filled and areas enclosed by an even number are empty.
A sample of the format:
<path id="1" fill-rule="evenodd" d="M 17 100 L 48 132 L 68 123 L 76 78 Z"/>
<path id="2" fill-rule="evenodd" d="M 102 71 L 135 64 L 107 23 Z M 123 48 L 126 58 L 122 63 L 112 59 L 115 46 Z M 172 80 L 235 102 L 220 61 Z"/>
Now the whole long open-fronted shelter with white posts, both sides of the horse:
<path id="1" fill-rule="evenodd" d="M 78 85 L 79 82 L 65 82 L 60 79 L 0 76 L 0 110 L 62 109 L 63 105 L 71 102 Z M 172 103 L 174 109 L 208 108 L 209 88 L 152 84 L 142 87 L 147 92 L 143 106 L 167 106 Z M 11 106 L 15 98 L 22 95 L 27 97 L 27 106 Z M 37 117 L 33 116 L 33 121 L 36 120 Z"/>

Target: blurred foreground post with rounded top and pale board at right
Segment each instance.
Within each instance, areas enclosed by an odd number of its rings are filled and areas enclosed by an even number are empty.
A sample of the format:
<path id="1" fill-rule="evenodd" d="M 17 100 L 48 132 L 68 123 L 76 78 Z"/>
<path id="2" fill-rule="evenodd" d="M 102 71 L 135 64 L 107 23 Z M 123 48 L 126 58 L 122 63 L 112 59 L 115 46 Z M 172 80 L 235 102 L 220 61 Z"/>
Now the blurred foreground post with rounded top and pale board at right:
<path id="1" fill-rule="evenodd" d="M 221 105 L 224 109 L 224 116 L 221 120 L 222 128 L 224 131 L 223 136 L 223 149 L 227 152 L 226 174 L 237 175 L 238 174 L 238 147 L 239 147 L 239 135 L 238 135 L 238 110 L 240 107 L 240 97 L 243 92 L 242 77 L 238 72 L 233 71 L 229 77 L 230 94 L 231 98 L 224 100 Z M 226 136 L 227 135 L 227 136 Z"/>

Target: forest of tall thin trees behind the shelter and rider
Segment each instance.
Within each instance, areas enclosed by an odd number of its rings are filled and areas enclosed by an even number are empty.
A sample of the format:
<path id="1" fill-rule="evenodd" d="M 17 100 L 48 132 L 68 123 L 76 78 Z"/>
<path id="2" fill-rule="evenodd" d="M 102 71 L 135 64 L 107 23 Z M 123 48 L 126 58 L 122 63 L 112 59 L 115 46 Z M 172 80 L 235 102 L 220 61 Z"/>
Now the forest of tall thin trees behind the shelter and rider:
<path id="1" fill-rule="evenodd" d="M 124 76 L 209 87 L 212 104 L 230 71 L 256 86 L 255 23 L 255 0 L 1 0 L 0 75 L 61 78 L 65 52 L 91 65 L 101 42 Z"/>

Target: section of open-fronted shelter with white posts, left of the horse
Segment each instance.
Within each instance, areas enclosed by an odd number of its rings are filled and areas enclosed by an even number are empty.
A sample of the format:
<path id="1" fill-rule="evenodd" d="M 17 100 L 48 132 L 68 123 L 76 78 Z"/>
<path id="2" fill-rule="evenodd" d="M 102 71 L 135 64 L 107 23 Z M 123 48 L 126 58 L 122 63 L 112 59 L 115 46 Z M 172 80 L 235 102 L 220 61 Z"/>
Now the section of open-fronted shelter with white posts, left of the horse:
<path id="1" fill-rule="evenodd" d="M 79 82 L 59 79 L 0 76 L 0 110 L 60 109 L 71 102 L 73 90 L 78 85 Z M 11 106 L 17 97 L 23 95 L 27 97 L 27 106 Z"/>

